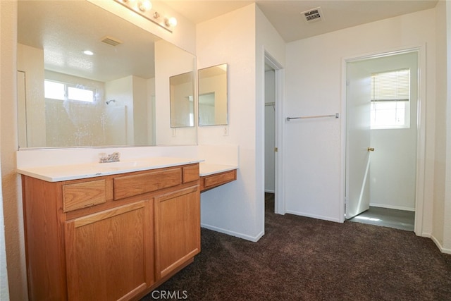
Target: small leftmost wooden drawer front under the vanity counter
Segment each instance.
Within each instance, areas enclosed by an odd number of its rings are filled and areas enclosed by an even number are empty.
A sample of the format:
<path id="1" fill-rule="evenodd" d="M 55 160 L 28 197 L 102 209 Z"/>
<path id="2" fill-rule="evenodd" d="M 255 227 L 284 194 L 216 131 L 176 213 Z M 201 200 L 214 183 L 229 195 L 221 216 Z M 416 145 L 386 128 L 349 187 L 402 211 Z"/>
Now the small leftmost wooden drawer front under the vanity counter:
<path id="1" fill-rule="evenodd" d="M 73 211 L 106 202 L 105 180 L 63 185 L 63 211 Z"/>

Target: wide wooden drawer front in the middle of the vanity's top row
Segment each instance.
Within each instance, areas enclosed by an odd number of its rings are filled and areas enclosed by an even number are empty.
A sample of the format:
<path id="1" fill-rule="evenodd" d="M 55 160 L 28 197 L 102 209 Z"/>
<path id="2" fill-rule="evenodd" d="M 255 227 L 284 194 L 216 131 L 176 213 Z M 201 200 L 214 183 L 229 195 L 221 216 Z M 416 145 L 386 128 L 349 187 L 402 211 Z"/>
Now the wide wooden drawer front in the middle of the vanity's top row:
<path id="1" fill-rule="evenodd" d="M 140 173 L 132 176 L 114 178 L 114 199 L 123 199 L 134 195 L 180 185 L 182 168 Z"/>

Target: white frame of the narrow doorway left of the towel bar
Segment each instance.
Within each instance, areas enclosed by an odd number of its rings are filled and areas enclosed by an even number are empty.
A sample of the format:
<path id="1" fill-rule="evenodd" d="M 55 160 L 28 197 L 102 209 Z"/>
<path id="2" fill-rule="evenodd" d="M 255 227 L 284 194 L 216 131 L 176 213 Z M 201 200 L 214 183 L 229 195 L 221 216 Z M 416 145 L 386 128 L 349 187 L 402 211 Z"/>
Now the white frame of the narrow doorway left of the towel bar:
<path id="1" fill-rule="evenodd" d="M 284 87 L 284 70 L 283 66 L 276 61 L 276 59 L 271 56 L 267 51 L 264 51 L 265 63 L 274 69 L 274 102 L 275 102 L 275 114 L 274 114 L 274 124 L 275 129 L 275 145 L 278 148 L 278 152 L 275 152 L 274 161 L 274 171 L 276 173 L 274 183 L 274 202 L 275 202 L 275 213 L 285 214 L 285 191 L 283 186 L 283 158 L 284 158 L 284 125 L 283 122 L 283 87 Z"/>

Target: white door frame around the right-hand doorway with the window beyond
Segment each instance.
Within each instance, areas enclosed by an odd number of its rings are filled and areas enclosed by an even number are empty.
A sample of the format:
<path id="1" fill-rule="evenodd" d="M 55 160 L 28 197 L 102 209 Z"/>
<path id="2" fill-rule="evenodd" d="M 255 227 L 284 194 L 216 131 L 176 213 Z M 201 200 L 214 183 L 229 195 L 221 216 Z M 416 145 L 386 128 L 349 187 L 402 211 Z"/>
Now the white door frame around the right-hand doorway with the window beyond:
<path id="1" fill-rule="evenodd" d="M 340 179 L 340 221 L 345 221 L 345 192 L 346 192 L 346 89 L 347 89 L 347 63 L 351 61 L 362 61 L 365 59 L 376 59 L 381 56 L 390 56 L 394 54 L 403 54 L 407 52 L 417 52 L 418 54 L 418 117 L 417 117 L 417 139 L 416 139 L 416 192 L 415 192 L 415 227 L 416 235 L 423 233 L 423 209 L 424 209 L 424 180 L 426 164 L 426 45 L 417 47 L 407 47 L 393 49 L 390 51 L 379 51 L 372 54 L 363 54 L 361 56 L 352 56 L 342 59 L 342 137 L 341 137 L 341 179 Z"/>

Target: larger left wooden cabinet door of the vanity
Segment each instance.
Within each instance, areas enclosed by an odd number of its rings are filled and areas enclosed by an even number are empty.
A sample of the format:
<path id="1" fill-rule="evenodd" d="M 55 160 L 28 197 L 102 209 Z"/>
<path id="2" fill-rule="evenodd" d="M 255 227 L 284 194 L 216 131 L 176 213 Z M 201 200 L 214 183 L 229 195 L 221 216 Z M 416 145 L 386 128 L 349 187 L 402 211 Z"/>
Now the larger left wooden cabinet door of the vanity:
<path id="1" fill-rule="evenodd" d="M 66 221 L 69 300 L 128 300 L 154 283 L 152 201 Z"/>

